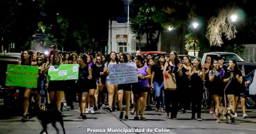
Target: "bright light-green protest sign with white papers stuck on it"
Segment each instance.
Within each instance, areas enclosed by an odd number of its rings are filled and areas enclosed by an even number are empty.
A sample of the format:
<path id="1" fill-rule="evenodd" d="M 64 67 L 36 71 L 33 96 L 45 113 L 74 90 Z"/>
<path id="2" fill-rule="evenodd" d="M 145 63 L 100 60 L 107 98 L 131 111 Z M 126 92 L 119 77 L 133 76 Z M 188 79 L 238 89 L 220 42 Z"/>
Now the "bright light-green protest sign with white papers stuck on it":
<path id="1" fill-rule="evenodd" d="M 78 79 L 78 64 L 60 64 L 50 66 L 48 69 L 49 80 L 76 80 Z"/>

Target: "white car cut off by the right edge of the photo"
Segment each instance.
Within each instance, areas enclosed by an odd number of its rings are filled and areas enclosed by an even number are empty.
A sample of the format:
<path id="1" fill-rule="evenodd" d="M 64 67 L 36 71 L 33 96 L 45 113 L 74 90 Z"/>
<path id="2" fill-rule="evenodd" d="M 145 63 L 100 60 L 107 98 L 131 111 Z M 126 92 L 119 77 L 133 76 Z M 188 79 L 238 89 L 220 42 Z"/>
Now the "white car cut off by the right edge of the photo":
<path id="1" fill-rule="evenodd" d="M 244 76 L 246 80 L 250 80 L 248 86 L 245 88 L 246 94 L 248 97 L 245 101 L 246 108 L 256 108 L 256 78 L 254 78 L 254 74 L 256 73 L 256 69 Z"/>

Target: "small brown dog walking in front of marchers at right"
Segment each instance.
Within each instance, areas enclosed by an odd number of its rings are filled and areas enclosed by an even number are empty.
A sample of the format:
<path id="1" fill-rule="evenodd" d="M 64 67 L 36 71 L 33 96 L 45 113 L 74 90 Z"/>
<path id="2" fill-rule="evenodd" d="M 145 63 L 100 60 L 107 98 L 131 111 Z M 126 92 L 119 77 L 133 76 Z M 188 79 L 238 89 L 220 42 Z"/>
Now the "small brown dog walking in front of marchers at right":
<path id="1" fill-rule="evenodd" d="M 222 116 L 223 118 L 226 118 L 227 123 L 229 123 L 228 119 L 232 113 L 234 112 L 230 108 L 219 106 L 215 110 L 217 122 L 220 122 L 220 116 Z"/>

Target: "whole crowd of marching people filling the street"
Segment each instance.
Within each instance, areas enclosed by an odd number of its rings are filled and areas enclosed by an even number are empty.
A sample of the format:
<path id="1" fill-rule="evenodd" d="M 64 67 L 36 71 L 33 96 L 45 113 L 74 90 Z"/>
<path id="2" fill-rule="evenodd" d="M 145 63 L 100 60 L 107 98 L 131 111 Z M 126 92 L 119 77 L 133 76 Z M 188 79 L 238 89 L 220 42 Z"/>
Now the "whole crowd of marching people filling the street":
<path id="1" fill-rule="evenodd" d="M 108 66 L 128 62 L 136 63 L 138 82 L 110 84 Z M 34 106 L 44 110 L 54 108 L 62 111 L 64 102 L 67 105 L 66 110 L 74 110 L 73 101 L 78 96 L 78 118 L 81 119 L 86 119 L 88 113 L 95 114 L 95 110 L 102 109 L 107 98 L 106 109 L 109 112 L 120 110 L 120 119 L 129 120 L 130 113 L 135 114 L 135 120 L 146 120 L 144 111 L 152 110 L 150 104 L 155 102 L 154 110 L 165 112 L 166 118 L 177 120 L 178 110 L 187 113 L 186 110 L 190 110 L 191 106 L 191 118 L 201 121 L 204 86 L 208 88 L 212 98 L 210 114 L 214 115 L 214 109 L 221 105 L 222 98 L 227 97 L 229 107 L 235 112 L 230 120 L 235 122 L 238 98 L 241 98 L 243 118 L 246 118 L 244 88 L 248 82 L 242 78 L 242 70 L 238 68 L 236 60 L 230 60 L 228 67 L 223 65 L 222 57 L 212 60 L 208 56 L 206 64 L 201 62 L 200 58 L 192 60 L 187 55 L 181 63 L 176 51 L 170 52 L 169 57 L 160 55 L 152 59 L 150 54 L 144 57 L 140 50 L 137 50 L 134 56 L 123 52 L 110 52 L 108 56 L 102 52 L 60 53 L 56 44 L 50 44 L 48 55 L 24 50 L 22 60 L 18 64 L 38 66 L 38 86 L 23 90 L 22 122 L 27 120 L 31 92 L 34 96 Z M 60 64 L 79 64 L 78 79 L 49 81 L 48 69 Z M 176 90 L 164 89 L 164 75 L 167 73 L 175 74 Z M 150 92 L 152 89 L 154 92 Z M 126 105 L 125 116 L 123 104 Z"/>

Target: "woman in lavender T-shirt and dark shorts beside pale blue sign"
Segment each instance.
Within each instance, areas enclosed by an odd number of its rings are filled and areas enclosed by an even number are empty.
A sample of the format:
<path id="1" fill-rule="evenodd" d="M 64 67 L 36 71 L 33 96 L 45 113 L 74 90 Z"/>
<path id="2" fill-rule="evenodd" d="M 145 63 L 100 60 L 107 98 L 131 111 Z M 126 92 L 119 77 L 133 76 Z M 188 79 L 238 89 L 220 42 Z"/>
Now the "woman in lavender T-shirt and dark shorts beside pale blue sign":
<path id="1" fill-rule="evenodd" d="M 144 110 L 146 107 L 147 94 L 149 90 L 148 79 L 151 78 L 151 70 L 147 65 L 144 65 L 144 58 L 142 58 L 142 56 L 135 56 L 134 61 L 136 62 L 138 68 L 137 74 L 139 79 L 138 83 L 134 83 L 134 85 L 132 86 L 136 109 L 136 116 L 134 117 L 134 120 L 139 120 L 140 108 L 140 119 L 146 120 L 146 117 L 144 116 Z"/>

